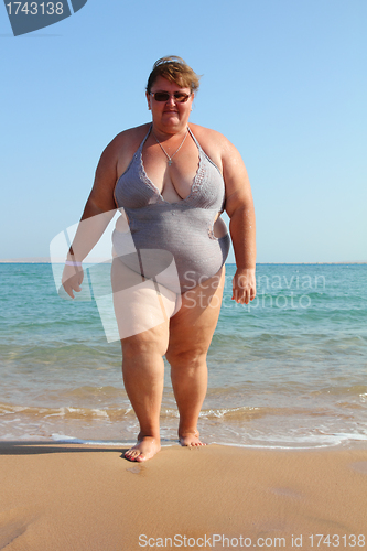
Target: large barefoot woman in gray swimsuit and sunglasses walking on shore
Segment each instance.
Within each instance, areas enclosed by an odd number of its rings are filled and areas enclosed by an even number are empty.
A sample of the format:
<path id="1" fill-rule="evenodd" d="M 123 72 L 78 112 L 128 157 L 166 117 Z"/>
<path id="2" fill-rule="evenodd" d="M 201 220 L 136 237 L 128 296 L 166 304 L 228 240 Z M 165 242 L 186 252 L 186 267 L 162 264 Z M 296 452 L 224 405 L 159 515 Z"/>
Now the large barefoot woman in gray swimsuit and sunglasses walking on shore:
<path id="1" fill-rule="evenodd" d="M 163 356 L 171 366 L 181 445 L 201 446 L 197 420 L 207 389 L 206 356 L 218 321 L 224 262 L 233 241 L 233 300 L 256 295 L 255 212 L 246 168 L 219 132 L 190 122 L 198 77 L 176 56 L 159 60 L 147 84 L 151 121 L 119 133 L 101 154 L 63 274 L 74 298 L 82 262 L 111 217 L 111 282 L 123 383 L 138 442 L 126 458 L 160 450 Z M 229 233 L 220 218 L 226 210 Z"/>

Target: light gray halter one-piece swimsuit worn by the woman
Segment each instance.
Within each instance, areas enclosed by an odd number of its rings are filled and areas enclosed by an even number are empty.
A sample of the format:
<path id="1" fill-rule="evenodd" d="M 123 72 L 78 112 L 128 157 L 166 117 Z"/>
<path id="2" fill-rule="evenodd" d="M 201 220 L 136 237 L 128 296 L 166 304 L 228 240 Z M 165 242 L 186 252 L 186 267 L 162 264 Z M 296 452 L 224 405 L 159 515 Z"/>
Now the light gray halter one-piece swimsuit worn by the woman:
<path id="1" fill-rule="evenodd" d="M 217 238 L 213 231 L 216 215 L 224 210 L 225 183 L 217 165 L 188 129 L 198 149 L 198 170 L 186 198 L 179 203 L 164 201 L 142 162 L 142 149 L 150 131 L 151 128 L 115 188 L 117 205 L 128 215 L 138 255 L 127 253 L 123 234 L 116 230 L 114 248 L 126 266 L 147 278 L 154 278 L 173 257 L 183 293 L 215 276 L 227 258 L 228 234 Z M 147 249 L 151 249 L 156 266 L 147 269 L 144 263 L 143 270 L 139 251 Z"/>

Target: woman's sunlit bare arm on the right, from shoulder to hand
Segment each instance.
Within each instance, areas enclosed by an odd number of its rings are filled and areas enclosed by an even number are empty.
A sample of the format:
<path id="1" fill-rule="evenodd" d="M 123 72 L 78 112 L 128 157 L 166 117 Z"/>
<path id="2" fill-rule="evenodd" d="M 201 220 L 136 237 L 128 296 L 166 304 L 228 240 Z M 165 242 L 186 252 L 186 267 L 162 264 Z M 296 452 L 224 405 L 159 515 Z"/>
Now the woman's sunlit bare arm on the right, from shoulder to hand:
<path id="1" fill-rule="evenodd" d="M 237 271 L 233 280 L 233 300 L 248 304 L 256 296 L 256 226 L 250 182 L 237 149 L 225 141 L 223 175 L 226 185 L 226 212 L 235 250 Z"/>

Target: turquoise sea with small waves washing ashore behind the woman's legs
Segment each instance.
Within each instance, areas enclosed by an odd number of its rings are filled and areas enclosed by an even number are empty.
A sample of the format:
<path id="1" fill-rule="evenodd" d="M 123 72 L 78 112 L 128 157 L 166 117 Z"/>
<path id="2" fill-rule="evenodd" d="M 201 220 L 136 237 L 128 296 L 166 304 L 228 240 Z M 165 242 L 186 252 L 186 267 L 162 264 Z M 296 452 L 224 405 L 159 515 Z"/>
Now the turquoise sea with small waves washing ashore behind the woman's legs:
<path id="1" fill-rule="evenodd" d="M 208 443 L 367 440 L 367 264 L 259 264 L 250 305 L 223 307 L 198 429 Z M 138 423 L 94 301 L 64 301 L 50 264 L 0 264 L 0 440 L 134 442 Z M 165 369 L 163 444 L 177 410 Z"/>

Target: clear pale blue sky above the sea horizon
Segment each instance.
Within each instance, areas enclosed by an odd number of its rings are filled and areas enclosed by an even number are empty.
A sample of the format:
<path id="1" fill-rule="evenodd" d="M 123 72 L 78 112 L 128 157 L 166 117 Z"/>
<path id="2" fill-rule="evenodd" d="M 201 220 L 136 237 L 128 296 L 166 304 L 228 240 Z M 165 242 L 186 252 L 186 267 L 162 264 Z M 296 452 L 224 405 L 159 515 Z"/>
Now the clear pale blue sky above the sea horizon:
<path id="1" fill-rule="evenodd" d="M 0 259 L 50 255 L 104 148 L 150 120 L 154 62 L 180 55 L 203 75 L 191 121 L 247 166 L 257 261 L 367 261 L 366 28 L 366 0 L 88 0 L 13 36 L 0 7 Z"/>

